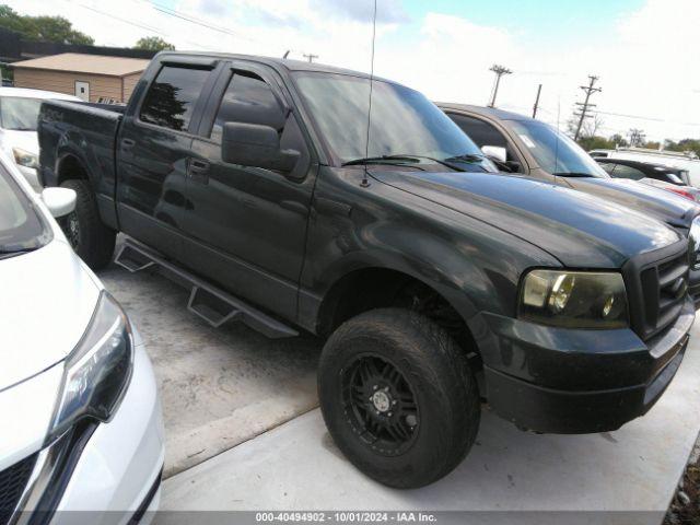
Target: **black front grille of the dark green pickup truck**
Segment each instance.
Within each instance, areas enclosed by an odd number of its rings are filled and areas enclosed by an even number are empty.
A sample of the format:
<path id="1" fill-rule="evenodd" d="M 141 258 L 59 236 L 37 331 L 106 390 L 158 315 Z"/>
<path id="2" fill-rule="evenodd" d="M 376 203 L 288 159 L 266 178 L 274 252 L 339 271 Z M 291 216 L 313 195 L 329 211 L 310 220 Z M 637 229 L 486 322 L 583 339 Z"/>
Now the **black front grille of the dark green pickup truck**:
<path id="1" fill-rule="evenodd" d="M 690 260 L 684 242 L 639 259 L 628 264 L 626 281 L 632 328 L 648 340 L 678 318 L 688 295 Z"/>

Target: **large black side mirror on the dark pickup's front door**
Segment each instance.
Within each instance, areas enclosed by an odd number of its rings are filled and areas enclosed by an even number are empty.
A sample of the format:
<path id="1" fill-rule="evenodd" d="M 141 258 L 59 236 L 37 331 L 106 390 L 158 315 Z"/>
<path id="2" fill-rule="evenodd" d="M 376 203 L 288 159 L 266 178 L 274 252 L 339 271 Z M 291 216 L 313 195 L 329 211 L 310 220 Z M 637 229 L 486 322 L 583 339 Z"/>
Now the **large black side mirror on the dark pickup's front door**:
<path id="1" fill-rule="evenodd" d="M 280 149 L 279 135 L 270 126 L 242 122 L 223 125 L 223 162 L 290 173 L 300 156 L 299 151 Z"/>

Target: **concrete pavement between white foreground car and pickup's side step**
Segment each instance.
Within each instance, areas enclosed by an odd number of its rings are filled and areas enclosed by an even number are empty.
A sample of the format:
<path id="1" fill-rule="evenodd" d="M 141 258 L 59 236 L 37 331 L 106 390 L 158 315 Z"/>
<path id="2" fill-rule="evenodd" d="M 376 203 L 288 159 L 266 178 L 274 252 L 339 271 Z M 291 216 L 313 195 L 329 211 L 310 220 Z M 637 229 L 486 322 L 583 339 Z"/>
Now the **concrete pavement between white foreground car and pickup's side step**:
<path id="1" fill-rule="evenodd" d="M 100 272 L 153 361 L 165 419 L 168 477 L 317 406 L 312 337 L 271 340 L 242 324 L 214 329 L 187 311 L 187 292 L 158 273 Z"/>

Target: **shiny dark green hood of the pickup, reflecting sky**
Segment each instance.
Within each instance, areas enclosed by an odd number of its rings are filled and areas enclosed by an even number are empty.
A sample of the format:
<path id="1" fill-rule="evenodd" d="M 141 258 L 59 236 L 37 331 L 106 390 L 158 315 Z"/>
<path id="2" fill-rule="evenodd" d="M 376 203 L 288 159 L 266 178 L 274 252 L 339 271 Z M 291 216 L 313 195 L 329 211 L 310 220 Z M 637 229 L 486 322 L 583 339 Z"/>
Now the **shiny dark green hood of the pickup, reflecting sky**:
<path id="1" fill-rule="evenodd" d="M 378 170 L 371 175 L 523 238 L 567 267 L 619 268 L 630 257 L 681 238 L 641 212 L 528 178 Z"/>

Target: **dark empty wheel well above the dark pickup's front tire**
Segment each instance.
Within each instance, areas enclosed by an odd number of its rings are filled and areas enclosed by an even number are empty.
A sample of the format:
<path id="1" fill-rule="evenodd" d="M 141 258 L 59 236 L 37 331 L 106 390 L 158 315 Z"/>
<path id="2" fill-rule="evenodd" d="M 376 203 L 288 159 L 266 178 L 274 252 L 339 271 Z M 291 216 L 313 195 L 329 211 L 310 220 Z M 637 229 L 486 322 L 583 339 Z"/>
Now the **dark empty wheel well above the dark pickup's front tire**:
<path id="1" fill-rule="evenodd" d="M 336 282 L 322 303 L 318 334 L 327 337 L 355 315 L 389 306 L 425 315 L 445 328 L 466 352 L 479 355 L 467 324 L 446 299 L 411 276 L 384 268 L 355 270 Z"/>

